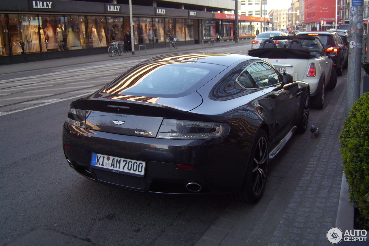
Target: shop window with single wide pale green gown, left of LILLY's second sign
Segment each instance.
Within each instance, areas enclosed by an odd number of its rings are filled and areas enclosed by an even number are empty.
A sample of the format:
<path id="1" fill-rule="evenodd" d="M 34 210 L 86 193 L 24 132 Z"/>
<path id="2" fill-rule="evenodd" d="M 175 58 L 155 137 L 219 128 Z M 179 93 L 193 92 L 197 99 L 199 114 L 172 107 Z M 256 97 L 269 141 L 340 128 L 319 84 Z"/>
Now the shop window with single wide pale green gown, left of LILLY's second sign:
<path id="1" fill-rule="evenodd" d="M 69 16 L 65 28 L 65 49 L 86 49 L 88 47 L 88 33 L 86 33 L 85 16 Z M 63 27 L 62 27 L 63 29 Z"/>

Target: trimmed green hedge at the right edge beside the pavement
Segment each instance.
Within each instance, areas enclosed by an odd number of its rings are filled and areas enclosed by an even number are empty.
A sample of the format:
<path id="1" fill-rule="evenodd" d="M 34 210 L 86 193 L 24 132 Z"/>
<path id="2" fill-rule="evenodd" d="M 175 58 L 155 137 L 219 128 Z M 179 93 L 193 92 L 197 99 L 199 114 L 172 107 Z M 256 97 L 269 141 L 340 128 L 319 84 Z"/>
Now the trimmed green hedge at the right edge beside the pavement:
<path id="1" fill-rule="evenodd" d="M 344 173 L 350 200 L 360 212 L 362 225 L 369 229 L 369 92 L 359 98 L 345 119 L 339 134 Z"/>

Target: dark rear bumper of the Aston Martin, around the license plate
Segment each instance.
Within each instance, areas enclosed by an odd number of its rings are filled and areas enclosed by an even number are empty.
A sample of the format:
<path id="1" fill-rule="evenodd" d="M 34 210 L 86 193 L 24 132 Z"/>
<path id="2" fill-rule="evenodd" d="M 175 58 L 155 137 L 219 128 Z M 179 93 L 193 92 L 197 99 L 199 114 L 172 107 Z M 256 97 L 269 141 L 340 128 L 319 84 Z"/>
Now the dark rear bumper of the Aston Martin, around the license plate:
<path id="1" fill-rule="evenodd" d="M 120 188 L 168 194 L 226 194 L 237 192 L 244 182 L 248 151 L 254 136 L 238 141 L 228 137 L 212 140 L 169 140 L 125 136 L 63 127 L 64 154 L 83 176 Z M 243 146 L 242 149 L 239 146 Z M 92 153 L 146 161 L 144 177 L 118 174 L 90 166 Z M 177 164 L 195 169 L 179 169 Z M 196 182 L 201 191 L 186 189 Z"/>

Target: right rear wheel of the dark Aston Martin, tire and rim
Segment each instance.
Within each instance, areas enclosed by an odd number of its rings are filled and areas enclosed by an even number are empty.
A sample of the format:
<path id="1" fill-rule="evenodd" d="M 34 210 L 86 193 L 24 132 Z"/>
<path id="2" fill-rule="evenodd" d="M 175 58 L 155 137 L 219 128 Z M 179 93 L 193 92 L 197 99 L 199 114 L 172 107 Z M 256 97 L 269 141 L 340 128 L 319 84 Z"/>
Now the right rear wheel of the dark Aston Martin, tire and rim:
<path id="1" fill-rule="evenodd" d="M 259 130 L 252 145 L 249 161 L 246 167 L 244 184 L 240 192 L 230 194 L 232 201 L 240 203 L 255 203 L 261 198 L 265 184 L 266 172 L 269 164 L 268 135 Z"/>

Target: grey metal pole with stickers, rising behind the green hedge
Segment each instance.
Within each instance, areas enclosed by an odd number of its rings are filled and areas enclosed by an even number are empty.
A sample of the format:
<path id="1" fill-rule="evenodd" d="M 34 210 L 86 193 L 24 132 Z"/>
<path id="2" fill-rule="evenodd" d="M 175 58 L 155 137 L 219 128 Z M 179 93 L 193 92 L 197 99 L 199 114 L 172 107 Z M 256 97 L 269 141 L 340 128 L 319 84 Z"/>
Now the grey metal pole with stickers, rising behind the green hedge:
<path id="1" fill-rule="evenodd" d="M 350 44 L 348 52 L 346 116 L 360 97 L 363 47 L 363 0 L 352 0 L 350 8 Z"/>

